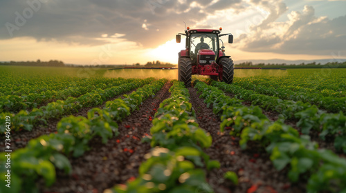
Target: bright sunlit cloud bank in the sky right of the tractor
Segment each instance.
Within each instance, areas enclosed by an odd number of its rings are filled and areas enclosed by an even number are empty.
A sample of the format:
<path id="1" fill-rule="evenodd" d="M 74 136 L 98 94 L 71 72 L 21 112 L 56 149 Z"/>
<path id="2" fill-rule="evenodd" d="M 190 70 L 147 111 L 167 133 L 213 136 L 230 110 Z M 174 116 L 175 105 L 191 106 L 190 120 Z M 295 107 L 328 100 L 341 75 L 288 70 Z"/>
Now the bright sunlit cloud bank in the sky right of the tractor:
<path id="1" fill-rule="evenodd" d="M 346 50 L 346 15 L 336 19 L 316 17 L 312 6 L 304 6 L 301 12 L 287 14 L 288 21 L 276 21 L 284 14 L 284 7 L 280 4 L 276 8 L 267 6 L 271 14 L 262 23 L 252 26 L 249 32 L 239 35 L 237 48 L 248 52 L 313 55 Z"/>

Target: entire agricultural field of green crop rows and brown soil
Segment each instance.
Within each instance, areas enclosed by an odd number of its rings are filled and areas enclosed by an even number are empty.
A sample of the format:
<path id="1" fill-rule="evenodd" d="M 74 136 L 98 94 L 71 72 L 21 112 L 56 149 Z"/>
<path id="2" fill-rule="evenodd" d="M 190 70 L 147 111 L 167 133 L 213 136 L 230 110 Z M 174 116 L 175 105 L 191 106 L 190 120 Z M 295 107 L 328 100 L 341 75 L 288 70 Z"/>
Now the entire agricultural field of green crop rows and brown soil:
<path id="1" fill-rule="evenodd" d="M 0 66 L 0 192 L 346 192 L 345 69 L 176 77 Z"/>

